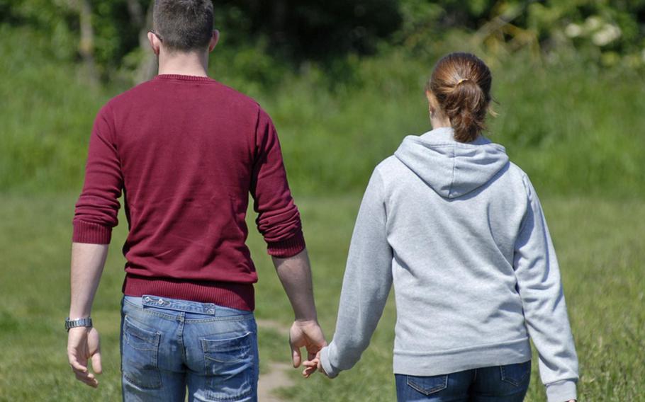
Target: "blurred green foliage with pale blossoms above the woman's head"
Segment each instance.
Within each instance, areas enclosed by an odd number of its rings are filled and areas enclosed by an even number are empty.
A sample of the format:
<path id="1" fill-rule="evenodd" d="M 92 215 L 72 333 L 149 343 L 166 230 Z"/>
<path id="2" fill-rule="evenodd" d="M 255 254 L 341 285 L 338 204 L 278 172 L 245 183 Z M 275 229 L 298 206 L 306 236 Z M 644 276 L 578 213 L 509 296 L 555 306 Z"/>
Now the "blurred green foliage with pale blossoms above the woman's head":
<path id="1" fill-rule="evenodd" d="M 471 42 L 497 55 L 571 50 L 588 62 L 645 67 L 645 1 L 402 0 L 398 43 L 416 52 L 449 30 L 475 30 Z"/>

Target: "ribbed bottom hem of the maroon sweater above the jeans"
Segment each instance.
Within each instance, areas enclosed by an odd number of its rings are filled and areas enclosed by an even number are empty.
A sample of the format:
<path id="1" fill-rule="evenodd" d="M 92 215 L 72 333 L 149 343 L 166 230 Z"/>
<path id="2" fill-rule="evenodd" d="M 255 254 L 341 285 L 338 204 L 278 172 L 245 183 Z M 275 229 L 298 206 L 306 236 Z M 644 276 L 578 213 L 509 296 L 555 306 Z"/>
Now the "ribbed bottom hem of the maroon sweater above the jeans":
<path id="1" fill-rule="evenodd" d="M 191 302 L 214 303 L 232 309 L 255 309 L 254 288 L 250 283 L 178 280 L 126 274 L 123 294 L 134 297 L 150 294 Z"/>

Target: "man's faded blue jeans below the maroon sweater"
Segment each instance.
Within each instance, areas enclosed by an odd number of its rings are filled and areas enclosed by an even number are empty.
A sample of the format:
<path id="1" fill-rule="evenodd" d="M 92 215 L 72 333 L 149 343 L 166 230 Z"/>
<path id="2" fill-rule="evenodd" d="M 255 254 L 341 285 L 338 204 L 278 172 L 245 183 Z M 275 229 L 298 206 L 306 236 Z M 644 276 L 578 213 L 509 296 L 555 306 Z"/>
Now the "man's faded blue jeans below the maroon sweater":
<path id="1" fill-rule="evenodd" d="M 120 347 L 123 401 L 257 401 L 251 311 L 125 296 Z"/>

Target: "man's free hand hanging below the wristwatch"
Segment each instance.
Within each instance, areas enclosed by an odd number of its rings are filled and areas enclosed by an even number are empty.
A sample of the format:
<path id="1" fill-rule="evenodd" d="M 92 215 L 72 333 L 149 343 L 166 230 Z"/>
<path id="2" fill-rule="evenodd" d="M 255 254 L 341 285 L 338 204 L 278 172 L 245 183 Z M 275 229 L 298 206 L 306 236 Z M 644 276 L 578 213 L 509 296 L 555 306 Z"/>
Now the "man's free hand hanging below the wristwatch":
<path id="1" fill-rule="evenodd" d="M 98 387 L 99 381 L 94 374 L 102 372 L 99 331 L 96 331 L 96 328 L 70 328 L 67 335 L 67 359 L 79 381 L 94 388 Z M 91 359 L 94 374 L 87 369 L 88 359 Z"/>

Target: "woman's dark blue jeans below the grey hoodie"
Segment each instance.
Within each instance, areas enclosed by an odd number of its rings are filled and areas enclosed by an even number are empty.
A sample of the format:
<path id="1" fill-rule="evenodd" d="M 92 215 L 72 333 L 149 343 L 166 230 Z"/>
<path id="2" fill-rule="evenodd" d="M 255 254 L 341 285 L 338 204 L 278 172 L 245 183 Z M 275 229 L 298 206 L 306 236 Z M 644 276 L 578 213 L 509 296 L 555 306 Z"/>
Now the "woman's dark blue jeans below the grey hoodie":
<path id="1" fill-rule="evenodd" d="M 395 374 L 398 402 L 521 402 L 531 380 L 531 361 L 432 377 Z"/>

